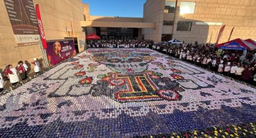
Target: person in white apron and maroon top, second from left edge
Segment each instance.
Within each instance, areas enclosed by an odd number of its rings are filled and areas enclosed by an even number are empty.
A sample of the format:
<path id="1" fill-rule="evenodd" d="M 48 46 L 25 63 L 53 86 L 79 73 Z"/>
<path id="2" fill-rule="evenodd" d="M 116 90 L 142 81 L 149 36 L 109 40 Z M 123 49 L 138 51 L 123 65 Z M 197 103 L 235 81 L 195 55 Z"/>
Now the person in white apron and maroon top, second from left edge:
<path id="1" fill-rule="evenodd" d="M 19 82 L 19 76 L 17 74 L 16 68 L 13 68 L 13 65 L 8 65 L 6 70 L 7 77 L 10 79 L 10 83 L 14 86 Z"/>

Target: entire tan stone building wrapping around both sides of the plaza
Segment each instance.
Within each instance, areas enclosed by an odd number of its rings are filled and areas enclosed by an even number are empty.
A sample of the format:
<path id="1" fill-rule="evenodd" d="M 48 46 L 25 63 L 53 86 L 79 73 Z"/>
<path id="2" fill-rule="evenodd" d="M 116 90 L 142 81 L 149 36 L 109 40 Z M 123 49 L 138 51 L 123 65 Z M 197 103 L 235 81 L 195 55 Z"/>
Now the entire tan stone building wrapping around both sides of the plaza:
<path id="1" fill-rule="evenodd" d="M 185 43 L 215 43 L 221 26 L 226 25 L 220 43 L 228 40 L 233 27 L 231 39 L 256 40 L 255 0 L 147 0 L 142 5 L 141 18 L 91 16 L 89 5 L 81 0 L 17 1 L 39 4 L 46 40 L 74 37 L 79 52 L 84 50 L 85 37 L 90 33 L 102 39 L 143 38 L 160 42 L 176 38 Z M 0 0 L 1 69 L 20 60 L 42 60 L 39 44 L 18 46 L 6 7 L 11 2 L 14 0 Z"/>

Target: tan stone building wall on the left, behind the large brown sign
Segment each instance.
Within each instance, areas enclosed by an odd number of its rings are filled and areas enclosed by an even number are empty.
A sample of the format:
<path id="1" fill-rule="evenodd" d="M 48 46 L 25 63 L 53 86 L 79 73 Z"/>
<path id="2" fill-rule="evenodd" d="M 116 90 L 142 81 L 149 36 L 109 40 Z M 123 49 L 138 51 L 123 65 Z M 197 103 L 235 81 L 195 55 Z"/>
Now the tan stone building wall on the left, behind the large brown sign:
<path id="1" fill-rule="evenodd" d="M 34 0 L 36 4 L 40 7 L 46 40 L 72 37 L 71 20 L 74 37 L 84 41 L 85 35 L 80 26 L 80 21 L 84 20 L 81 0 Z M 5 65 L 16 65 L 20 60 L 32 62 L 33 58 L 38 58 L 42 61 L 39 44 L 17 47 L 4 0 L 0 0 L 0 19 L 0 68 L 3 70 Z M 80 51 L 84 50 L 84 46 L 79 47 Z"/>

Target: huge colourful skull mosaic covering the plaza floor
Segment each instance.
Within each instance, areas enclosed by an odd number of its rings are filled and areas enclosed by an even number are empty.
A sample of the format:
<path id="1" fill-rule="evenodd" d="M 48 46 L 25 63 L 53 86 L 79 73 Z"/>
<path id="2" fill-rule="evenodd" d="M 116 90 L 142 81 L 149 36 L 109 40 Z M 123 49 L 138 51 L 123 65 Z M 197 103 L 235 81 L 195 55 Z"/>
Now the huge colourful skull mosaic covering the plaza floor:
<path id="1" fill-rule="evenodd" d="M 151 49 L 89 49 L 0 97 L 0 137 L 136 137 L 255 122 L 256 89 Z"/>

